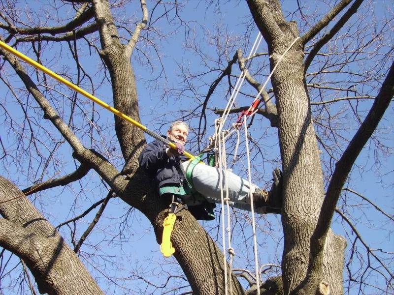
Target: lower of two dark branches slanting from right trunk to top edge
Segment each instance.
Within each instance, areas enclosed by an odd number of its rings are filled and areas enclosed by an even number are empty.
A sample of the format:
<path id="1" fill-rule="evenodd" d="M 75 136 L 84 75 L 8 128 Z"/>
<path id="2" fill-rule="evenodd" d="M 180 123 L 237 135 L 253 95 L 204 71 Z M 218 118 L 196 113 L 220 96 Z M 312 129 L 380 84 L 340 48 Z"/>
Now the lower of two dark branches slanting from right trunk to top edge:
<path id="1" fill-rule="evenodd" d="M 345 14 L 338 20 L 338 22 L 330 29 L 330 31 L 318 41 L 315 46 L 310 51 L 308 57 L 304 62 L 304 73 L 308 69 L 312 60 L 315 58 L 319 50 L 345 25 L 345 23 L 350 19 L 350 17 L 357 12 L 357 9 L 360 7 L 363 0 L 356 0 L 352 6 L 350 6 L 349 10 L 345 12 Z"/>

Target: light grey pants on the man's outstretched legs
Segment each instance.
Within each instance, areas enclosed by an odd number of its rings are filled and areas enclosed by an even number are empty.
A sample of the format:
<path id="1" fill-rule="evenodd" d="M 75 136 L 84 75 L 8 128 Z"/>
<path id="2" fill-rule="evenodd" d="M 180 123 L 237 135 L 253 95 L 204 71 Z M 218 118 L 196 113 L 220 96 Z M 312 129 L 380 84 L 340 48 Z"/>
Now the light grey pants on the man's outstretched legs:
<path id="1" fill-rule="evenodd" d="M 190 165 L 190 161 L 181 163 L 182 170 L 185 172 Z M 227 182 L 230 205 L 244 210 L 250 210 L 249 193 L 254 193 L 258 186 L 252 184 L 232 172 L 222 170 L 223 180 L 223 196 L 226 198 Z M 193 168 L 192 180 L 193 186 L 201 195 L 203 195 L 210 203 L 221 203 L 220 192 L 220 170 L 202 163 L 198 163 Z"/>

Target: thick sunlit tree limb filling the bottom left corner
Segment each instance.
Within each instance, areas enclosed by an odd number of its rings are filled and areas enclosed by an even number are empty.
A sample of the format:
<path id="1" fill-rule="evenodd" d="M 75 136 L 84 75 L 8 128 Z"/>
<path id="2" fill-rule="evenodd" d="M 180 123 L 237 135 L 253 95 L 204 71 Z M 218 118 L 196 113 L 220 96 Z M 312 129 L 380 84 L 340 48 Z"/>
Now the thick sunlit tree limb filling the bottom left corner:
<path id="1" fill-rule="evenodd" d="M 13 183 L 0 176 L 0 246 L 24 260 L 39 291 L 50 295 L 102 294 L 56 229 Z"/>

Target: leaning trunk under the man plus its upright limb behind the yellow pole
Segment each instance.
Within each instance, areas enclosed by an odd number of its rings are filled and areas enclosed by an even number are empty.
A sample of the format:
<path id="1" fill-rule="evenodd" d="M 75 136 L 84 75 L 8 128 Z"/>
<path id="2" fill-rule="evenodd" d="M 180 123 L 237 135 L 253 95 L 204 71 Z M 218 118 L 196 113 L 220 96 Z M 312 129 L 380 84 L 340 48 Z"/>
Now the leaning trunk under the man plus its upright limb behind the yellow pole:
<path id="1" fill-rule="evenodd" d="M 95 0 L 94 6 L 100 25 L 101 55 L 111 75 L 114 107 L 139 120 L 136 86 L 128 55 L 131 50 L 119 42 L 116 28 L 112 25 L 108 2 Z M 157 241 L 161 243 L 167 210 L 164 210 L 161 200 L 149 189 L 147 178 L 138 170 L 137 157 L 145 145 L 145 137 L 142 131 L 131 124 L 117 118 L 115 120 L 116 133 L 126 160 L 122 174 L 128 174 L 129 179 L 127 188 L 119 192 L 119 196 L 149 218 L 154 226 Z M 218 284 L 224 282 L 222 252 L 188 212 L 180 214 L 181 218 L 175 223 L 171 241 L 176 249 L 174 256 L 185 271 L 193 291 L 196 294 L 224 294 L 224 283 Z M 232 282 L 232 294 L 243 294 L 234 276 Z"/>

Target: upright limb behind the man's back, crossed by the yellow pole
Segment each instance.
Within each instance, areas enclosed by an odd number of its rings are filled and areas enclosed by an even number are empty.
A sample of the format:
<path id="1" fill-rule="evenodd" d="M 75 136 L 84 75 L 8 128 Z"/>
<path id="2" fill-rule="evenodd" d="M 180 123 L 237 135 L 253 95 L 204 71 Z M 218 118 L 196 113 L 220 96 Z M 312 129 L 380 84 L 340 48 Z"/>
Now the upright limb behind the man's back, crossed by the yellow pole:
<path id="1" fill-rule="evenodd" d="M 121 44 L 107 0 L 93 1 L 99 23 L 101 56 L 111 76 L 114 108 L 139 121 L 139 107 L 134 72 L 127 46 Z M 115 131 L 126 165 L 123 174 L 138 168 L 138 155 L 145 143 L 143 132 L 131 123 L 115 116 Z"/>

